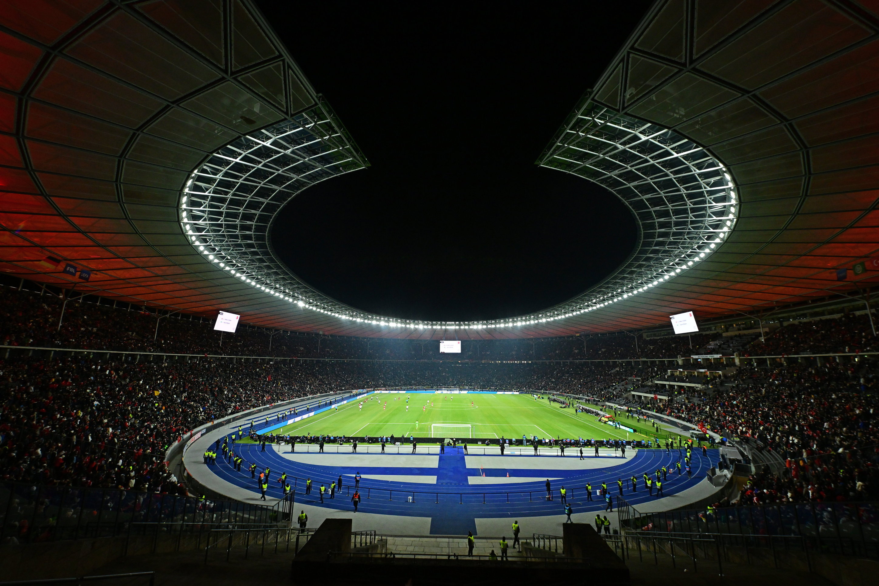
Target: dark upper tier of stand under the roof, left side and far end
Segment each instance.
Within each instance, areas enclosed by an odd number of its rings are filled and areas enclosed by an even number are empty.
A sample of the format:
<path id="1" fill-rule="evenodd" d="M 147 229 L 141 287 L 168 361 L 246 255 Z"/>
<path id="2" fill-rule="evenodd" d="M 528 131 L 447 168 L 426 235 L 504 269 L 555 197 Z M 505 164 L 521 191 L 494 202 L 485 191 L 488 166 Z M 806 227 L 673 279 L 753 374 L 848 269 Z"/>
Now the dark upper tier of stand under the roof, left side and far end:
<path id="1" fill-rule="evenodd" d="M 710 335 L 655 340 L 628 334 L 530 340 L 463 340 L 460 354 L 440 354 L 436 341 L 323 336 L 240 324 L 235 334 L 213 329 L 208 318 L 157 317 L 153 310 L 113 307 L 90 297 L 70 300 L 46 292 L 0 286 L 0 344 L 41 348 L 224 354 L 283 358 L 506 361 L 675 358 L 692 352 Z M 123 308 L 124 307 L 124 308 Z M 59 322 L 61 327 L 59 328 Z M 157 326 L 157 327 L 156 327 Z"/>

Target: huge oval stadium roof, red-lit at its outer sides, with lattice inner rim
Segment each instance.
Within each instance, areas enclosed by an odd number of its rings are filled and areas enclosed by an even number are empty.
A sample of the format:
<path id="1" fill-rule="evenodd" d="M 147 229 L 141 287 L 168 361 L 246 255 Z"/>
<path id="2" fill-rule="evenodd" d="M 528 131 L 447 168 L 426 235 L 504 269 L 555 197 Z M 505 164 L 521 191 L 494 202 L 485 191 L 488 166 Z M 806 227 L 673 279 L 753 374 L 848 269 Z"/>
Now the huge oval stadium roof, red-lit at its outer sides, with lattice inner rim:
<path id="1" fill-rule="evenodd" d="M 368 163 L 252 4 L 11 0 L 0 271 L 265 326 L 417 338 L 631 329 L 849 291 L 875 273 L 838 270 L 879 248 L 877 14 L 658 1 L 538 161 L 620 196 L 635 252 L 560 306 L 450 323 L 367 315 L 274 257 L 280 207 Z"/>

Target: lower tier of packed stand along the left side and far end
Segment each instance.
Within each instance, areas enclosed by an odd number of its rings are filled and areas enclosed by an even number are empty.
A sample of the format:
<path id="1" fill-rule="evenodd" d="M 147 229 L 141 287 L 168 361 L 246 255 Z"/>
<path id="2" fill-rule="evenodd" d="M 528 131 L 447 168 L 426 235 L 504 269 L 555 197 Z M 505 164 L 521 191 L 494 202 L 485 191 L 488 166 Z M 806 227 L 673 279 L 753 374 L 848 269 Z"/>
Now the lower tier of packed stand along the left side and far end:
<path id="1" fill-rule="evenodd" d="M 618 366 L 278 362 L 209 358 L 0 362 L 0 478 L 40 484 L 181 491 L 163 466 L 186 431 L 238 411 L 374 387 L 501 387 L 592 392 Z"/>

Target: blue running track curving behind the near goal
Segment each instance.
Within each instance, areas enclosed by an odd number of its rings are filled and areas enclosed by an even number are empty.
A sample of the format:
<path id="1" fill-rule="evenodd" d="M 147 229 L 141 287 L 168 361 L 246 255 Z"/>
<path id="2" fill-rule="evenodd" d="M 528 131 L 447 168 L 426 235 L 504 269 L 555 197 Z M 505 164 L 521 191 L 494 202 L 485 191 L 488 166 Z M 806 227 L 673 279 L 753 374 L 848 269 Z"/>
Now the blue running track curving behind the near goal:
<path id="1" fill-rule="evenodd" d="M 366 447 L 366 445 L 362 445 Z M 304 448 L 304 445 L 297 445 Z M 345 449 L 343 447 L 343 449 Z M 555 462 L 560 460 L 558 456 L 517 456 L 517 458 L 527 457 L 534 459 L 546 460 L 545 466 L 529 467 L 527 469 L 513 468 L 490 468 L 485 469 L 486 476 L 509 476 L 511 477 L 528 477 L 528 478 L 556 478 L 559 480 L 552 481 L 553 500 L 547 500 L 545 481 L 527 481 L 514 484 L 469 484 L 469 476 L 479 476 L 479 468 L 468 468 L 465 456 L 460 447 L 447 448 L 444 454 L 431 454 L 432 457 L 439 459 L 439 467 L 402 467 L 395 462 L 396 453 L 375 454 L 370 452 L 369 459 L 378 459 L 383 466 L 381 467 L 352 467 L 347 465 L 334 465 L 333 459 L 337 459 L 337 464 L 345 460 L 347 452 L 343 453 L 324 453 L 322 454 L 322 463 L 320 466 L 313 464 L 305 464 L 291 459 L 285 458 L 279 452 L 276 452 L 271 446 L 266 447 L 265 452 L 261 452 L 259 445 L 256 444 L 236 444 L 235 452 L 241 456 L 245 463 L 241 472 L 236 472 L 234 467 L 218 457 L 215 466 L 208 467 L 214 474 L 222 480 L 230 482 L 241 488 L 246 488 L 259 494 L 257 481 L 251 479 L 251 473 L 247 470 L 251 462 L 257 464 L 257 477 L 259 471 L 265 470 L 265 467 L 271 468 L 272 472 L 269 478 L 269 489 L 267 496 L 280 498 L 283 496 L 281 485 L 278 482 L 282 472 L 287 473 L 287 481 L 296 489 L 296 502 L 308 503 L 310 505 L 323 506 L 337 510 L 353 510 L 351 503 L 351 495 L 353 494 L 354 480 L 352 475 L 360 472 L 360 474 L 393 474 L 393 475 L 428 475 L 436 476 L 436 484 L 406 481 L 383 481 L 377 479 L 366 479 L 360 481 L 360 511 L 368 513 L 379 513 L 383 515 L 404 515 L 412 517 L 431 517 L 431 533 L 434 535 L 449 534 L 465 534 L 468 531 L 476 533 L 475 519 L 481 517 L 529 517 L 544 515 L 561 515 L 563 514 L 563 504 L 560 503 L 558 488 L 564 486 L 568 490 L 568 502 L 575 513 L 603 511 L 605 503 L 602 496 L 598 496 L 598 490 L 601 482 L 607 482 L 608 492 L 614 497 L 614 507 L 616 498 L 619 496 L 617 479 L 621 478 L 625 487 L 623 489 L 623 498 L 633 505 L 639 503 L 648 503 L 656 500 L 656 490 L 654 496 L 649 496 L 644 485 L 643 474 L 650 475 L 655 480 L 655 471 L 663 466 L 668 467 L 667 481 L 663 481 L 663 492 L 665 496 L 671 496 L 679 493 L 686 488 L 691 488 L 700 482 L 709 467 L 718 459 L 716 450 L 708 450 L 708 456 L 703 457 L 701 450 L 694 450 L 692 459 L 692 477 L 687 477 L 686 472 L 677 474 L 675 463 L 682 457 L 677 450 L 665 452 L 665 450 L 637 450 L 634 457 L 622 459 L 614 457 L 610 453 L 599 456 L 602 460 L 607 460 L 606 467 L 593 467 L 589 469 L 558 469 Z M 280 450 L 289 453 L 288 445 L 280 446 Z M 408 452 L 408 450 L 405 450 Z M 571 450 L 574 452 L 574 450 Z M 296 452 L 299 453 L 299 452 Z M 311 452 L 311 458 L 316 456 L 316 452 Z M 405 455 L 405 454 L 401 454 Z M 421 455 L 424 455 L 422 453 Z M 474 454 L 471 454 L 471 457 Z M 495 460 L 506 458 L 495 456 Z M 577 459 L 577 455 L 565 456 L 565 459 Z M 587 459 L 595 459 L 589 456 Z M 684 468 L 686 469 L 686 468 Z M 343 488 L 336 494 L 336 497 L 329 498 L 329 486 L 331 481 L 336 481 L 338 476 L 343 478 Z M 637 491 L 633 492 L 629 488 L 628 479 L 635 475 L 637 478 Z M 312 480 L 312 491 L 310 495 L 305 494 L 305 480 Z M 320 503 L 320 485 L 324 483 L 327 487 L 327 493 L 324 495 L 323 504 Z M 586 500 L 585 484 L 592 484 L 592 502 Z M 655 483 L 654 483 L 655 484 Z M 411 500 L 410 500 L 411 499 Z"/>

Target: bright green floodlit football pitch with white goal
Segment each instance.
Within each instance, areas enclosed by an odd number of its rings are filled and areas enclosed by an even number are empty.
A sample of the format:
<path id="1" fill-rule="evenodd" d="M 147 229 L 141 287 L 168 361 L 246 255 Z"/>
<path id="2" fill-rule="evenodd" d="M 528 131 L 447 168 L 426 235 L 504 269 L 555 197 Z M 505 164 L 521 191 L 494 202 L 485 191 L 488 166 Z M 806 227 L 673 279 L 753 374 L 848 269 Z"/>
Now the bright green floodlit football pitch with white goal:
<path id="1" fill-rule="evenodd" d="M 362 409 L 360 403 L 363 403 Z M 408 407 L 408 409 L 407 409 Z M 594 406 L 593 406 L 594 407 Z M 421 436 L 436 438 L 585 438 L 646 439 L 656 434 L 650 423 L 620 422 L 619 430 L 588 413 L 563 409 L 531 394 L 379 393 L 324 411 L 275 430 L 282 435 Z M 469 425 L 437 427 L 435 424 Z"/>

